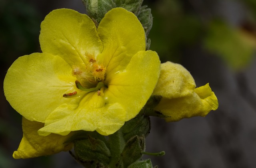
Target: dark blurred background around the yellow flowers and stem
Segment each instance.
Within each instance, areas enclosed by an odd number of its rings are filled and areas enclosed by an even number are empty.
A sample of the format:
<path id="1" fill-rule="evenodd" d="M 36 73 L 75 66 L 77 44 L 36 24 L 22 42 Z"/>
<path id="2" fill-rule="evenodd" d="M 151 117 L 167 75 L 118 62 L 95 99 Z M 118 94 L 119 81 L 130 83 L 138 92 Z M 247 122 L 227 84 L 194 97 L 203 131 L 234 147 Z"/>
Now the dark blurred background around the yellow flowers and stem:
<path id="1" fill-rule="evenodd" d="M 152 9 L 150 49 L 182 64 L 197 86 L 210 83 L 219 109 L 206 117 L 165 123 L 151 118 L 147 152 L 160 168 L 256 166 L 256 0 L 144 0 Z M 40 22 L 56 8 L 86 13 L 81 0 L 0 0 L 0 87 L 15 59 L 41 52 Z M 26 160 L 12 153 L 21 116 L 0 94 L 0 168 L 82 168 L 68 152 Z"/>

